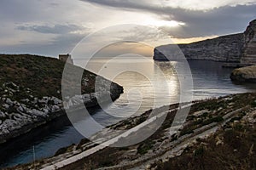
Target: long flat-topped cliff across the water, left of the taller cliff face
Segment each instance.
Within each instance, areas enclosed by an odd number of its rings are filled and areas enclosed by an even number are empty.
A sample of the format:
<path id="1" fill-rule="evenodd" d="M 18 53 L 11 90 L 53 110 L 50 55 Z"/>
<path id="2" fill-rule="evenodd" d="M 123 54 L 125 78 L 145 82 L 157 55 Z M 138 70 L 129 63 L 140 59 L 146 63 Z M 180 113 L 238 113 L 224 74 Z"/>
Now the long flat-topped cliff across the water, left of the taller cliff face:
<path id="1" fill-rule="evenodd" d="M 234 34 L 189 44 L 164 45 L 154 49 L 154 60 L 177 60 L 177 46 L 186 59 L 206 59 L 224 62 L 239 62 L 244 35 Z M 173 50 L 175 48 L 175 51 Z"/>

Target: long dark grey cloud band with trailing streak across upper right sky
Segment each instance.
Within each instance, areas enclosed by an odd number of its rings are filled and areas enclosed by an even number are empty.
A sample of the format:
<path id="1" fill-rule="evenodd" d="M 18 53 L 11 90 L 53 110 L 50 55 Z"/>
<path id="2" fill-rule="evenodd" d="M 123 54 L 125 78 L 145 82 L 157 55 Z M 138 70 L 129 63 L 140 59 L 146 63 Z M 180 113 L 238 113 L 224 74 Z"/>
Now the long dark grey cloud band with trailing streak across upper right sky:
<path id="1" fill-rule="evenodd" d="M 86 0 L 81 0 L 86 1 Z M 175 38 L 207 37 L 241 32 L 248 22 L 256 18 L 255 4 L 212 8 L 211 10 L 189 10 L 184 8 L 153 6 L 146 2 L 121 0 L 90 0 L 90 3 L 157 14 L 162 20 L 182 21 L 180 28 L 162 26 L 160 30 Z"/>

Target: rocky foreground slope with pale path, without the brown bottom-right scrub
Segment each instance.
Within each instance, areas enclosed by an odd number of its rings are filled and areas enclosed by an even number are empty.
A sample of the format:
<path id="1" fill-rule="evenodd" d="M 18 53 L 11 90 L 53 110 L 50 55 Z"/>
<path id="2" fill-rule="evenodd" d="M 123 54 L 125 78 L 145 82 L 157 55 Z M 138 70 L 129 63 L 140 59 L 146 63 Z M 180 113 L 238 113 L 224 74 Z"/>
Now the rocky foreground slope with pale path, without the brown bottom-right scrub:
<path id="1" fill-rule="evenodd" d="M 226 142 L 223 139 L 222 133 L 220 133 L 222 131 L 230 129 L 239 131 L 239 129 L 242 129 L 241 127 L 250 128 L 256 125 L 256 94 L 232 94 L 218 99 L 195 101 L 191 105 L 189 116 L 183 126 L 176 133 L 170 133 L 173 117 L 178 109 L 177 104 L 166 105 L 157 109 L 155 116 L 166 115 L 166 121 L 162 123 L 156 133 L 140 144 L 123 148 L 111 148 L 101 147 L 87 139 L 82 139 L 80 144 L 63 148 L 57 151 L 55 156 L 36 161 L 34 165 L 26 164 L 8 169 L 29 169 L 32 167 L 38 169 L 162 169 L 161 167 L 177 158 L 185 161 L 183 155 L 186 153 L 202 154 L 197 153 L 198 150 L 201 150 L 202 141 L 207 143 L 208 139 L 212 139 L 212 136 L 214 137 L 214 144 L 217 146 L 229 145 L 229 141 Z M 161 111 L 166 112 L 161 113 Z M 146 111 L 141 116 L 118 122 L 110 128 L 114 130 L 127 129 L 129 131 L 129 129 L 137 127 L 142 122 L 146 122 L 150 113 L 151 111 Z M 152 125 L 148 126 L 152 127 Z M 109 132 L 103 130 L 97 133 L 95 138 L 100 137 L 101 133 Z M 109 133 L 108 136 L 111 139 L 118 135 L 120 134 Z M 131 135 L 133 134 L 131 133 Z M 247 135 L 250 135 L 250 133 Z M 251 140 L 245 140 L 245 142 L 251 146 L 253 137 L 248 138 Z M 101 138 L 98 139 L 101 140 Z M 90 150 L 96 151 L 87 155 L 86 152 Z M 211 148 L 204 150 L 211 150 Z M 254 152 L 252 153 L 250 158 L 255 156 Z M 225 158 L 223 161 L 225 161 Z M 227 161 L 229 160 L 227 159 Z M 241 161 L 240 159 L 238 162 Z M 253 163 L 253 161 L 250 161 L 250 163 Z M 255 161 L 254 166 L 256 166 Z"/>

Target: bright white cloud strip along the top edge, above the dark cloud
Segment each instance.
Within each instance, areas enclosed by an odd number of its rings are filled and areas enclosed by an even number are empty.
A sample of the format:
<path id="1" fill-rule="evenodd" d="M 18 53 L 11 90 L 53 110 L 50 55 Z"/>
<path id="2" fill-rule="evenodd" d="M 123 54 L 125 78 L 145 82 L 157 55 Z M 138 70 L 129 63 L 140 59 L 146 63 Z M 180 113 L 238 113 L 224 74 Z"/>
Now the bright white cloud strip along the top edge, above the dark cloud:
<path id="1" fill-rule="evenodd" d="M 123 1 L 123 0 L 80 0 L 88 3 L 95 3 L 98 5 L 108 6 L 112 8 L 124 8 L 126 10 L 144 10 L 154 13 L 166 12 L 170 9 L 182 8 L 185 10 L 211 10 L 224 6 L 236 5 L 252 5 L 256 4 L 255 0 L 141 0 L 141 1 Z"/>

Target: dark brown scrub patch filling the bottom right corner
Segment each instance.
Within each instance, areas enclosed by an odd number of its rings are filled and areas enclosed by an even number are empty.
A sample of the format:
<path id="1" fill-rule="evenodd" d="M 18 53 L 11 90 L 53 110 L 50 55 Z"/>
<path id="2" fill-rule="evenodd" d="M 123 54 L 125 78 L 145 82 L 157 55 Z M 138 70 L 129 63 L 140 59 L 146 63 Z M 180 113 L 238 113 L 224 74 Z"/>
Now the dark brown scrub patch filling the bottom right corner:
<path id="1" fill-rule="evenodd" d="M 209 139 L 201 139 L 199 144 L 186 149 L 181 156 L 159 162 L 155 169 L 255 169 L 255 128 L 223 129 Z M 223 139 L 224 144 L 216 145 L 216 137 Z"/>

